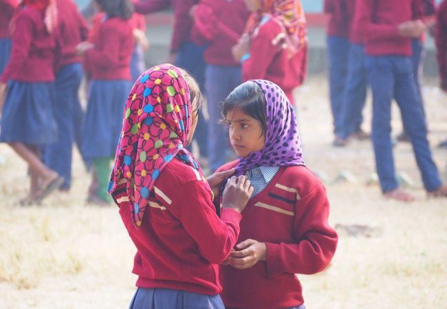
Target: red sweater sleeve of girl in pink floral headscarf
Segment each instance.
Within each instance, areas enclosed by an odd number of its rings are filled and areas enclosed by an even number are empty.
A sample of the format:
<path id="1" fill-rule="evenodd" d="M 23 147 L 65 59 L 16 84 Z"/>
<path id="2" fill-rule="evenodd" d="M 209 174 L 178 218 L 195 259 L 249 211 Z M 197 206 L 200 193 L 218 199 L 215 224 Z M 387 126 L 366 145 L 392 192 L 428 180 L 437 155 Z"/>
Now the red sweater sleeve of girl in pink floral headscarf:
<path id="1" fill-rule="evenodd" d="M 223 262 L 239 237 L 241 214 L 233 209 L 223 209 L 219 218 L 210 190 L 203 181 L 181 185 L 172 205 L 175 209 L 171 206 L 171 213 L 197 242 L 201 255 L 212 264 Z"/>

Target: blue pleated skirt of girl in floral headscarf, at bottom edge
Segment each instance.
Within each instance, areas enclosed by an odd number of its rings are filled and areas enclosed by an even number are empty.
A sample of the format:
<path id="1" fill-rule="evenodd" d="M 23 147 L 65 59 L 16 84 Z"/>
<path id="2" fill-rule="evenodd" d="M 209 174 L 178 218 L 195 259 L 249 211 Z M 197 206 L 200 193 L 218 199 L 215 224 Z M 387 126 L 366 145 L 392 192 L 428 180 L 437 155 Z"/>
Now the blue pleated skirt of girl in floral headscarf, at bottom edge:
<path id="1" fill-rule="evenodd" d="M 138 288 L 129 309 L 225 309 L 217 295 L 168 288 Z"/>

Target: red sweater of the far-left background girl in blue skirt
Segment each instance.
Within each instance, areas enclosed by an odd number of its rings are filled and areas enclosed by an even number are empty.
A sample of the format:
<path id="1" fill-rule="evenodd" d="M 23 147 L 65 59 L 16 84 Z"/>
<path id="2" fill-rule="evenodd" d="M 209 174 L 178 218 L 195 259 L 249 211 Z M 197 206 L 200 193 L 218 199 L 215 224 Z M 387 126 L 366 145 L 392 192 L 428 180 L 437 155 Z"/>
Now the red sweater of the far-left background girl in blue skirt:
<path id="1" fill-rule="evenodd" d="M 1 82 L 52 82 L 56 39 L 43 23 L 43 14 L 34 8 L 23 8 L 12 34 L 11 58 Z"/>

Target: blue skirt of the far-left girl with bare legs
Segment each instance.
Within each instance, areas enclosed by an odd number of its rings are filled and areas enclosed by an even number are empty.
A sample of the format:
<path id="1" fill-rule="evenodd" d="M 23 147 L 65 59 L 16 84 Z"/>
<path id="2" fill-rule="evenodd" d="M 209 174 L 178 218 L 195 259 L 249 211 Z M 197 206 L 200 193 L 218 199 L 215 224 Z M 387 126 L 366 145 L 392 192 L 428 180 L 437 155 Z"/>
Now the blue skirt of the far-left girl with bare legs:
<path id="1" fill-rule="evenodd" d="M 0 141 L 47 145 L 57 141 L 53 82 L 8 82 Z"/>

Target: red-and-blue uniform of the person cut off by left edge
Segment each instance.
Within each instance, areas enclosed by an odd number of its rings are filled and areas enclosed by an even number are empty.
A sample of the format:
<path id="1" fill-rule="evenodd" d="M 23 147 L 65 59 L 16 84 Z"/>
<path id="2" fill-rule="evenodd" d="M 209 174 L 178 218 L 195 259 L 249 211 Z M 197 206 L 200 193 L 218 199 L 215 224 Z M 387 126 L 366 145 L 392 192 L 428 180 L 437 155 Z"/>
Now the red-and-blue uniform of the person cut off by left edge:
<path id="1" fill-rule="evenodd" d="M 0 1 L 0 74 L 3 73 L 11 55 L 10 22 L 14 10 L 19 5 L 17 0 Z"/>

